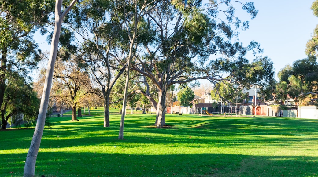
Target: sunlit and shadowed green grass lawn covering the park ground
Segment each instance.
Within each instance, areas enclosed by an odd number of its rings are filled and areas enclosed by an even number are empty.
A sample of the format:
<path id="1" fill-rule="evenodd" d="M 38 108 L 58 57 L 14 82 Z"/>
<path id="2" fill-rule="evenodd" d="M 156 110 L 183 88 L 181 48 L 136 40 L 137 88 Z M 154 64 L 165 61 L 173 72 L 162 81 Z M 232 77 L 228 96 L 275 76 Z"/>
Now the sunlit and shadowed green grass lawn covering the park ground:
<path id="1" fill-rule="evenodd" d="M 108 128 L 103 108 L 70 116 L 45 128 L 36 176 L 318 176 L 318 120 L 166 114 L 157 129 L 155 114 L 134 114 L 117 140 L 120 115 Z M 33 133 L 0 131 L 0 176 L 23 176 Z"/>

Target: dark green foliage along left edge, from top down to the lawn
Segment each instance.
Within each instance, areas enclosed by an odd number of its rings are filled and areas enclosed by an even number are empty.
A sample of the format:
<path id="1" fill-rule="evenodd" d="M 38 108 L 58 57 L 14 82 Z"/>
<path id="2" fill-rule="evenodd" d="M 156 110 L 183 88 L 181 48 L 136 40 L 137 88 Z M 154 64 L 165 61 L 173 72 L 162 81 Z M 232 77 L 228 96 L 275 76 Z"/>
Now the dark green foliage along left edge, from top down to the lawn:
<path id="1" fill-rule="evenodd" d="M 37 113 L 32 110 L 37 100 L 27 84 L 31 81 L 27 74 L 36 68 L 41 50 L 34 42 L 33 34 L 49 21 L 55 3 L 54 0 L 0 0 L 0 4 L 1 118 L 2 121 L 11 118 L 14 122 L 20 120 L 21 113 L 23 119 L 34 120 Z"/>

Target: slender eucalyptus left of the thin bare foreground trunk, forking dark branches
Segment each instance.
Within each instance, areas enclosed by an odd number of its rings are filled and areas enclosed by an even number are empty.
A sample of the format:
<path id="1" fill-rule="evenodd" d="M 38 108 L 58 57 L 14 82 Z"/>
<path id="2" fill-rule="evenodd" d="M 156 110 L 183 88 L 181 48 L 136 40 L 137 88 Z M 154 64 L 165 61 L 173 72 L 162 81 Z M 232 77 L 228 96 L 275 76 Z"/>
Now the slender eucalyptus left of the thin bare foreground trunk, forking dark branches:
<path id="1" fill-rule="evenodd" d="M 123 4 L 124 1 L 85 0 L 74 12 L 76 18 L 69 19 L 73 22 L 70 26 L 80 36 L 81 54 L 78 57 L 86 62 L 91 78 L 102 90 L 104 127 L 110 126 L 111 90 L 125 71 L 124 63 L 127 60 L 125 53 L 129 44 L 127 32 L 123 29 L 123 11 L 120 8 Z M 127 45 L 121 45 L 124 41 L 127 41 Z"/>

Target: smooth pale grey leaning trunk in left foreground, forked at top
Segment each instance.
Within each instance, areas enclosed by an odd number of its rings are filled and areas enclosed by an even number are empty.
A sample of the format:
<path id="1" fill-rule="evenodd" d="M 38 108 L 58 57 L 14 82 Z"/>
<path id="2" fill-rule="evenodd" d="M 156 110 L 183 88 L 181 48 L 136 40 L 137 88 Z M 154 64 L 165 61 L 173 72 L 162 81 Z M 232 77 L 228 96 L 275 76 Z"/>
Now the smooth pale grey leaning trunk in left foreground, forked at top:
<path id="1" fill-rule="evenodd" d="M 52 86 L 52 76 L 54 71 L 55 60 L 58 52 L 59 36 L 61 33 L 62 21 L 65 15 L 71 10 L 77 0 L 73 0 L 64 12 L 62 13 L 62 0 L 56 0 L 55 2 L 55 26 L 51 42 L 50 58 L 48 62 L 48 68 L 45 76 L 44 88 L 42 93 L 42 99 L 38 114 L 38 121 L 35 126 L 34 134 L 32 137 L 31 145 L 26 156 L 24 165 L 24 177 L 33 177 L 35 172 L 35 163 L 38 156 L 38 150 L 40 148 L 41 139 L 43 135 L 46 111 L 50 99 L 50 91 Z"/>

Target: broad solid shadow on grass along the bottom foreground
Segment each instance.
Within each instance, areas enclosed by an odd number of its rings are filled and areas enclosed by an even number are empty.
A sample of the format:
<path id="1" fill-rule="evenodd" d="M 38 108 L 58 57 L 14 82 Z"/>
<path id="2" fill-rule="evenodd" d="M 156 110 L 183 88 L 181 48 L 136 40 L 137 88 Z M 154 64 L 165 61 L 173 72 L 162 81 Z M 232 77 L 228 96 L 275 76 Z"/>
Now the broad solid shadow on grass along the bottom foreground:
<path id="1" fill-rule="evenodd" d="M 26 154 L 5 154 L 5 176 L 22 176 Z M 317 176 L 317 157 L 40 152 L 41 176 Z M 10 173 L 11 172 L 11 173 Z"/>

